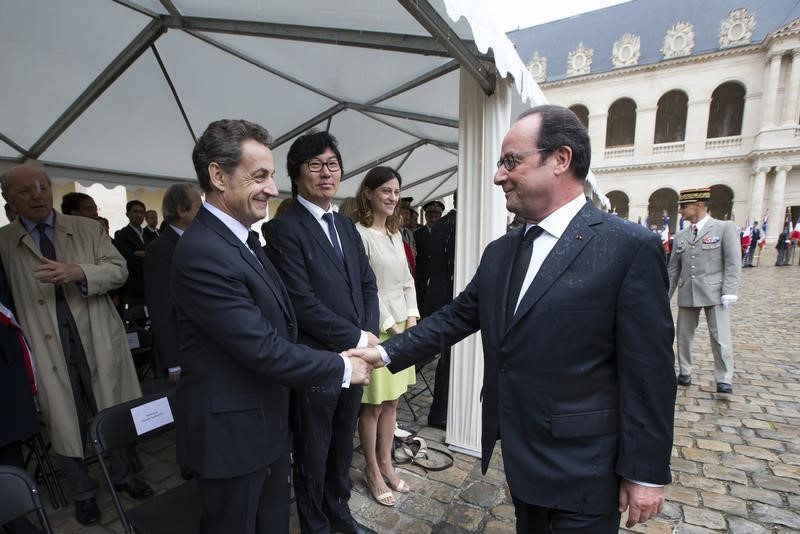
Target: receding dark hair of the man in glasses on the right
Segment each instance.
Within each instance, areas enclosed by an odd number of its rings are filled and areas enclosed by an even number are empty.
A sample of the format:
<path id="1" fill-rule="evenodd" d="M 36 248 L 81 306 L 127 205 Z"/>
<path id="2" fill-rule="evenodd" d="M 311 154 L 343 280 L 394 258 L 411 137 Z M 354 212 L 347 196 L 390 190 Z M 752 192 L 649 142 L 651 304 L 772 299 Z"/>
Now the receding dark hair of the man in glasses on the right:
<path id="1" fill-rule="evenodd" d="M 579 180 L 586 179 L 592 161 L 592 147 L 589 143 L 589 132 L 578 116 L 561 106 L 544 105 L 522 112 L 517 120 L 534 114 L 542 118 L 536 147 L 545 150 L 541 154 L 542 161 L 559 147 L 568 146 L 572 149 L 570 170 Z"/>

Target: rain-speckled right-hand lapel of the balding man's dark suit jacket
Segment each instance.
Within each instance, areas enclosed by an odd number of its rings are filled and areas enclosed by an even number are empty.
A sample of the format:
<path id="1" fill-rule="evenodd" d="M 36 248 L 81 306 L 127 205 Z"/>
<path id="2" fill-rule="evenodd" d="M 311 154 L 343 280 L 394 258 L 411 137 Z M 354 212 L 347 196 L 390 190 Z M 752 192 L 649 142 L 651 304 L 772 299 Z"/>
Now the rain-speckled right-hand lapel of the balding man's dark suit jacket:
<path id="1" fill-rule="evenodd" d="M 536 277 L 522 297 L 517 312 L 514 314 L 511 323 L 508 324 L 506 331 L 510 330 L 542 298 L 553 283 L 561 277 L 567 267 L 594 237 L 594 231 L 589 225 L 599 222 L 600 212 L 591 203 L 587 202 L 569 223 L 553 250 L 545 258 L 544 263 L 539 268 L 539 272 L 536 273 Z M 533 246 L 536 247 L 535 242 Z"/>

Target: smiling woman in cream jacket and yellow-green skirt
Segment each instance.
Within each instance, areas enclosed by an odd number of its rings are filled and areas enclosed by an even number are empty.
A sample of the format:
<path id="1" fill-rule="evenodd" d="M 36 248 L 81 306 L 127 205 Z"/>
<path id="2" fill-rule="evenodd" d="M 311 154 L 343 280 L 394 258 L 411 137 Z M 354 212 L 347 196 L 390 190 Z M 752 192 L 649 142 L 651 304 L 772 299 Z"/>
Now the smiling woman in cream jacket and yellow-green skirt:
<path id="1" fill-rule="evenodd" d="M 414 279 L 408 270 L 399 232 L 402 219 L 397 205 L 401 182 L 394 169 L 375 167 L 364 177 L 356 194 L 356 229 L 378 283 L 381 340 L 414 326 L 419 318 Z M 396 502 L 389 488 L 402 493 L 410 489 L 392 465 L 392 443 L 397 400 L 415 382 L 414 367 L 397 374 L 381 368 L 372 371 L 369 385 L 364 386 L 358 421 L 366 460 L 364 475 L 372 496 L 385 506 L 394 506 Z"/>

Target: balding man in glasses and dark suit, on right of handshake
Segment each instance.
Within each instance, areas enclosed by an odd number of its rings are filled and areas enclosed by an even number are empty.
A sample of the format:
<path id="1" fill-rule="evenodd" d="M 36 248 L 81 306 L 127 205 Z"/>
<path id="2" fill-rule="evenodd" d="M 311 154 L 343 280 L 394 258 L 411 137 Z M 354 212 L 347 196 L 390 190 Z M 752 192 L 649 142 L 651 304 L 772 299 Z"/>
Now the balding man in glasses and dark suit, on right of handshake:
<path id="1" fill-rule="evenodd" d="M 656 516 L 670 482 L 675 373 L 659 238 L 583 194 L 589 137 L 539 106 L 494 176 L 527 224 L 486 247 L 453 302 L 380 349 L 402 369 L 480 330 L 483 471 L 500 439 L 517 532 L 616 533 Z M 524 236 L 524 237 L 523 237 Z M 383 354 L 380 354 L 380 350 Z"/>

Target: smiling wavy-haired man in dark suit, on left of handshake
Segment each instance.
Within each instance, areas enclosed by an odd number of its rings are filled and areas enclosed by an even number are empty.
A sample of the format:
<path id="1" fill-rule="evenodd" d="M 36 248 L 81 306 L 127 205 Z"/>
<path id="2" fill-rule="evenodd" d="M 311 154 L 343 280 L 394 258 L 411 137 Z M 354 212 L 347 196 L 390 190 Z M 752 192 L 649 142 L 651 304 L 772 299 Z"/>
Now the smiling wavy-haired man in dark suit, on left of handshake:
<path id="1" fill-rule="evenodd" d="M 364 383 L 363 360 L 297 345 L 286 288 L 250 226 L 277 195 L 271 139 L 211 123 L 192 160 L 206 202 L 175 247 L 178 462 L 197 473 L 201 533 L 289 531 L 289 387 Z"/>

